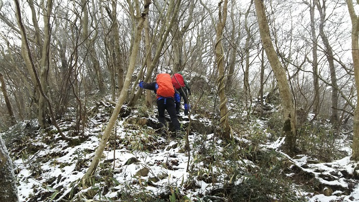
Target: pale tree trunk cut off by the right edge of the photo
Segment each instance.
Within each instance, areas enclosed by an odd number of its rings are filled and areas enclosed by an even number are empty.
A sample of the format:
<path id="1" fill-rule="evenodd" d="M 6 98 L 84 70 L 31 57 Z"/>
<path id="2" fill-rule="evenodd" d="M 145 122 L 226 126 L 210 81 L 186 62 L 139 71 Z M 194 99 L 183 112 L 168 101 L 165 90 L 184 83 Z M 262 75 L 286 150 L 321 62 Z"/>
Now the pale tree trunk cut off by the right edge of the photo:
<path id="1" fill-rule="evenodd" d="M 347 0 L 351 19 L 351 56 L 353 58 L 356 100 L 359 100 L 359 18 L 355 13 L 352 0 Z M 353 123 L 352 160 L 359 161 L 359 102 L 356 102 Z"/>

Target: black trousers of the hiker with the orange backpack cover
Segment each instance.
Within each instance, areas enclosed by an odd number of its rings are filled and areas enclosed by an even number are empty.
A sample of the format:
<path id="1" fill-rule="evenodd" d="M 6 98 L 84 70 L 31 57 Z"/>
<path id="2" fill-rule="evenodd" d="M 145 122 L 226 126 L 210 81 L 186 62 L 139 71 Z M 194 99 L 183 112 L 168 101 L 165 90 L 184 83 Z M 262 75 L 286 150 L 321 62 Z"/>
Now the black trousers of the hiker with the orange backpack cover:
<path id="1" fill-rule="evenodd" d="M 176 104 L 172 98 L 158 99 L 157 110 L 159 112 L 159 121 L 163 124 L 163 126 L 166 126 L 165 110 L 167 110 L 168 114 L 170 115 L 172 124 L 175 127 L 175 130 L 181 130 L 181 125 L 176 115 Z"/>

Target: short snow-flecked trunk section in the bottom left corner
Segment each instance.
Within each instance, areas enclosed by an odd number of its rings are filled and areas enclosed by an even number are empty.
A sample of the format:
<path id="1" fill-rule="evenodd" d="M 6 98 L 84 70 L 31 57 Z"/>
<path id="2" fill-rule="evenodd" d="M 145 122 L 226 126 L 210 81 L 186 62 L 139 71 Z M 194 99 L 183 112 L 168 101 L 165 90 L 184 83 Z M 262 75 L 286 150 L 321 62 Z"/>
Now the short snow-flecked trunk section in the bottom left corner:
<path id="1" fill-rule="evenodd" d="M 10 201 L 19 201 L 18 188 L 16 186 L 13 162 L 0 135 L 0 202 Z"/>

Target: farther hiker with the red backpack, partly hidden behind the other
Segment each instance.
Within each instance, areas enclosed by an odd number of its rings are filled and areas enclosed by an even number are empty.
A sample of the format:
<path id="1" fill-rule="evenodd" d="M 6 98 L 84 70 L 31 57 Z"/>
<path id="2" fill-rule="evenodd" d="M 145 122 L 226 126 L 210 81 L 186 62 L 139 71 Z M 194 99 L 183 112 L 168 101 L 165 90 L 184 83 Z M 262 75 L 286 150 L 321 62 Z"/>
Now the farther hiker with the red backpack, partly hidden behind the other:
<path id="1" fill-rule="evenodd" d="M 188 95 L 191 95 L 191 89 L 189 87 L 188 81 L 186 80 L 186 77 L 183 75 L 183 73 L 180 71 L 174 76 L 172 76 L 172 84 L 176 88 L 177 91 L 180 93 L 180 103 L 181 98 L 183 97 L 184 101 L 184 115 L 188 115 Z M 187 93 L 188 91 L 188 93 Z M 176 114 L 179 115 L 180 108 L 176 108 Z"/>

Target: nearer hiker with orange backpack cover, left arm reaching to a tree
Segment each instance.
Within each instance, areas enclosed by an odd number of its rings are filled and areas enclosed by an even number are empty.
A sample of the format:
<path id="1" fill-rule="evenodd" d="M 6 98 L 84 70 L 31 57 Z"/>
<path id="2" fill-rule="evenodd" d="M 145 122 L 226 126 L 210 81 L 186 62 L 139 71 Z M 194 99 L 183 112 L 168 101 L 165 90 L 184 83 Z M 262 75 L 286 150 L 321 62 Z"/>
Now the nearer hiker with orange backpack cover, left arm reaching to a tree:
<path id="1" fill-rule="evenodd" d="M 157 109 L 159 113 L 159 122 L 162 123 L 162 133 L 166 126 L 165 121 L 165 110 L 170 115 L 171 121 L 175 127 L 176 135 L 181 134 L 181 125 L 177 119 L 176 108 L 180 106 L 180 95 L 179 92 L 172 85 L 171 75 L 169 74 L 158 74 L 156 82 L 145 83 L 140 81 L 140 88 L 153 90 L 157 94 Z M 178 133 L 178 134 L 177 134 Z"/>

